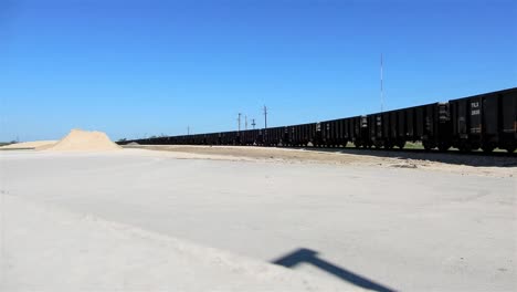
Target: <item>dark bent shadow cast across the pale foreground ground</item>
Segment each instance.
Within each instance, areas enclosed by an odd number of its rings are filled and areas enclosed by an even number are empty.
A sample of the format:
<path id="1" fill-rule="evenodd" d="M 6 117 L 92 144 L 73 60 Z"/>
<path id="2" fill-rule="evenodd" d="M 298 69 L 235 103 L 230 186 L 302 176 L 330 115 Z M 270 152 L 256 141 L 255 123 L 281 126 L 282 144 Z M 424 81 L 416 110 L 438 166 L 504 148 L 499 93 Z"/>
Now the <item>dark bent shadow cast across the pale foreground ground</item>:
<path id="1" fill-rule="evenodd" d="M 395 291 L 391 288 L 388 288 L 386 285 L 376 283 L 371 281 L 370 279 L 367 279 L 362 275 L 352 273 L 350 271 L 347 271 L 340 267 L 337 267 L 336 264 L 328 262 L 326 260 L 321 260 L 318 257 L 318 252 L 309 249 L 298 249 L 295 250 L 294 252 L 291 252 L 277 260 L 272 261 L 272 263 L 283 265 L 285 268 L 293 268 L 299 263 L 309 263 L 313 264 L 327 273 L 331 273 L 351 284 L 355 284 L 360 288 L 373 290 L 373 291 L 379 291 L 379 292 L 392 292 Z"/>

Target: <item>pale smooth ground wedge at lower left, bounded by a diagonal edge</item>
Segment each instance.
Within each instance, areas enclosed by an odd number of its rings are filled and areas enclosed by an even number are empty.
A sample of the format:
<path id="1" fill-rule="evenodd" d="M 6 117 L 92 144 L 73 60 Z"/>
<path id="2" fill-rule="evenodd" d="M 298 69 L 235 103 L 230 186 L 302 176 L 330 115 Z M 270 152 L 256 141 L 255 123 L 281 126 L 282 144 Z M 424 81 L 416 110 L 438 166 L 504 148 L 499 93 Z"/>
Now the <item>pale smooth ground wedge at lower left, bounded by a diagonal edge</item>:
<path id="1" fill-rule="evenodd" d="M 342 291 L 342 282 L 3 195 L 0 291 Z M 363 291 L 357 286 L 350 291 Z"/>

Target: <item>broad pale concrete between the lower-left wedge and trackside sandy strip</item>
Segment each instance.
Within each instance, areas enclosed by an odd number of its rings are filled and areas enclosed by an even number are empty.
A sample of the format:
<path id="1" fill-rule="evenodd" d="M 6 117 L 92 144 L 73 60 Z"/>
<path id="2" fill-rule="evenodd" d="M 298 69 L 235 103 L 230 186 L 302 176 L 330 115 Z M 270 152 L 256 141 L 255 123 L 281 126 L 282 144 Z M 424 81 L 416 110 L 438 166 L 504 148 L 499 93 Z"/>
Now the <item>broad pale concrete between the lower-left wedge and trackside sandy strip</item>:
<path id="1" fill-rule="evenodd" d="M 515 176 L 143 149 L 7 152 L 0 163 L 4 197 L 275 262 L 344 290 L 517 290 Z"/>

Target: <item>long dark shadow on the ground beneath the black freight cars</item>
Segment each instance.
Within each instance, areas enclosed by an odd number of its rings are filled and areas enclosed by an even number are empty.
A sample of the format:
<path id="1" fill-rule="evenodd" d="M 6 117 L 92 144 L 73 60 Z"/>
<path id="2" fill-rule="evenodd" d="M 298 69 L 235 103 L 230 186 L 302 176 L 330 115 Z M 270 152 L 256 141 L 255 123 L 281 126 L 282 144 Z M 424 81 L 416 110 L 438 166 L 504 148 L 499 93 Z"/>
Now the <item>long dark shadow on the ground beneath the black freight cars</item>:
<path id="1" fill-rule="evenodd" d="M 317 147 L 296 147 L 297 149 L 341 153 L 354 155 L 368 155 L 376 157 L 390 157 L 401 160 L 430 160 L 444 164 L 468 165 L 468 166 L 495 166 L 495 167 L 517 167 L 517 153 L 508 154 L 506 152 L 494 152 L 485 154 L 483 152 L 460 153 L 449 150 L 441 153 L 437 150 L 426 152 L 423 149 L 357 149 L 351 147 L 339 148 L 317 148 Z"/>

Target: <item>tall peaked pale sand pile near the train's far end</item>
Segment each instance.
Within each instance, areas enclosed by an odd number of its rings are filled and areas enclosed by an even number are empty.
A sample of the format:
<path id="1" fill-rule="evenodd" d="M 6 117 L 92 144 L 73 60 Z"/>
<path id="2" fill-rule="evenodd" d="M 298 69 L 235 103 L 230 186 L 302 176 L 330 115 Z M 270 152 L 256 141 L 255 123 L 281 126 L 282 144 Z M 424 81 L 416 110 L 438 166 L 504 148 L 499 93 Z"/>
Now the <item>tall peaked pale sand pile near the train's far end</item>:
<path id="1" fill-rule="evenodd" d="M 83 152 L 83 150 L 119 150 L 120 146 L 113 143 L 103 132 L 88 132 L 72 129 L 66 137 L 54 146 L 48 148 L 51 152 Z"/>

